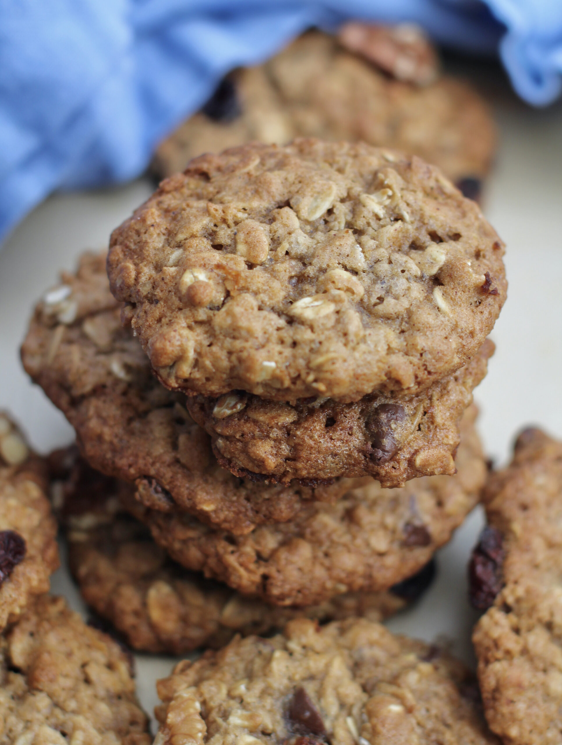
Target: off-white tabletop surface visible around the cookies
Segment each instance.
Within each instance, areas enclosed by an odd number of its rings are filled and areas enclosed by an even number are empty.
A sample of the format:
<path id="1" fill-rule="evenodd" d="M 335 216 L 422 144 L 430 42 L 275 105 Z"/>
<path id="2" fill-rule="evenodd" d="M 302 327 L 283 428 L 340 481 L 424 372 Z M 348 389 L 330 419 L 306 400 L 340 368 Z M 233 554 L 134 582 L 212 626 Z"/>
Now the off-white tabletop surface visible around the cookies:
<path id="1" fill-rule="evenodd" d="M 498 111 L 502 144 L 487 188 L 486 212 L 508 244 L 509 298 L 496 324 L 497 352 L 476 392 L 480 429 L 496 462 L 529 422 L 562 437 L 562 108 L 533 111 L 507 101 Z M 85 247 L 102 247 L 110 230 L 151 192 L 148 181 L 90 194 L 51 197 L 0 251 L 0 408 L 9 408 L 41 451 L 69 442 L 72 430 L 19 364 L 19 343 L 34 302 L 72 269 Z M 438 557 L 438 580 L 392 630 L 432 641 L 445 636 L 470 662 L 476 615 L 467 603 L 467 560 L 482 516 L 476 511 Z M 66 571 L 54 592 L 83 609 Z M 154 680 L 171 659 L 137 656 L 139 696 L 151 711 Z"/>

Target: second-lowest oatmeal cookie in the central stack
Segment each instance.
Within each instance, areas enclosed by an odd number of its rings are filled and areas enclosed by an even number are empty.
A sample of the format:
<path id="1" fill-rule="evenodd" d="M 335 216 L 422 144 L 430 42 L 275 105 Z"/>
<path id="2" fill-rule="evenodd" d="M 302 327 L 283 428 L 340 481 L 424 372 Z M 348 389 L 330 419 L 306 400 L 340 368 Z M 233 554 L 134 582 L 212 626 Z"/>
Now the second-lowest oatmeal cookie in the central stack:
<path id="1" fill-rule="evenodd" d="M 486 466 L 470 407 L 461 422 L 455 476 L 425 476 L 401 489 L 376 481 L 335 504 L 303 504 L 291 522 L 246 536 L 210 530 L 186 513 L 127 505 L 186 568 L 246 595 L 306 606 L 344 592 L 379 592 L 410 577 L 446 543 L 478 501 Z"/>

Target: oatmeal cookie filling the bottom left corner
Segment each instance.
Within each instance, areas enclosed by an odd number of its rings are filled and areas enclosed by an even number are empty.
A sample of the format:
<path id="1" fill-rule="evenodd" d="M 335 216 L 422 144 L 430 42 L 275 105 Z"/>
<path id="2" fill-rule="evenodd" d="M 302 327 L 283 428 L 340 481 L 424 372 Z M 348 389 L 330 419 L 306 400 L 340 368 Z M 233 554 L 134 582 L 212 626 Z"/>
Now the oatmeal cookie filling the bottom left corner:
<path id="1" fill-rule="evenodd" d="M 63 597 L 0 637 L 0 745 L 150 745 L 130 661 Z"/>

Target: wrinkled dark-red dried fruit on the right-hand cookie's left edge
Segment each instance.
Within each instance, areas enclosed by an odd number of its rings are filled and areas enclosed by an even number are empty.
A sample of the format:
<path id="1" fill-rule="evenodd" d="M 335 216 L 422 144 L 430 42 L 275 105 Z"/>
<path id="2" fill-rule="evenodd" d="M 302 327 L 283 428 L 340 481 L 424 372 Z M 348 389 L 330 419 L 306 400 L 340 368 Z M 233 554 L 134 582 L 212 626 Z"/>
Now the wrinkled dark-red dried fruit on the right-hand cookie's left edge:
<path id="1" fill-rule="evenodd" d="M 502 533 L 496 527 L 484 527 L 470 559 L 470 602 L 479 610 L 487 610 L 502 589 L 505 558 L 502 544 Z"/>

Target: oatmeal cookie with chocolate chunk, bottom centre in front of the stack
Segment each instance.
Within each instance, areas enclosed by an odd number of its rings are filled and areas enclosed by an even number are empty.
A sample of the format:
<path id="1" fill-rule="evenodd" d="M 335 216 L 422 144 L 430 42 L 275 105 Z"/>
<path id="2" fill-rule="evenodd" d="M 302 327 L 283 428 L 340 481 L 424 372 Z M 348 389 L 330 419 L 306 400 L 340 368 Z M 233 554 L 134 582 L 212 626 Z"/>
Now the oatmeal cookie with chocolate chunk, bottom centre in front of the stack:
<path id="1" fill-rule="evenodd" d="M 464 665 L 362 619 L 237 638 L 157 690 L 155 745 L 498 744 Z"/>

